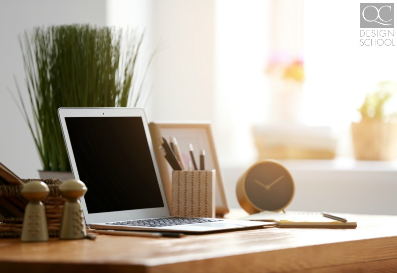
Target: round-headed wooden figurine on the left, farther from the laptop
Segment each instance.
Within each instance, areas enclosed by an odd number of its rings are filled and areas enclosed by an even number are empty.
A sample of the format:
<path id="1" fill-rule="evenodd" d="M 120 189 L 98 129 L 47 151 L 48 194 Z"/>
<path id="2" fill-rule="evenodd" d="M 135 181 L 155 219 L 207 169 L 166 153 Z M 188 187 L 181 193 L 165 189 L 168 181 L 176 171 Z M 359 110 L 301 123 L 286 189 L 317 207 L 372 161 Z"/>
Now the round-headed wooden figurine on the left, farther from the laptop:
<path id="1" fill-rule="evenodd" d="M 48 241 L 46 210 L 41 200 L 49 192 L 48 186 L 41 181 L 30 181 L 23 186 L 21 194 L 29 203 L 23 217 L 22 242 Z"/>

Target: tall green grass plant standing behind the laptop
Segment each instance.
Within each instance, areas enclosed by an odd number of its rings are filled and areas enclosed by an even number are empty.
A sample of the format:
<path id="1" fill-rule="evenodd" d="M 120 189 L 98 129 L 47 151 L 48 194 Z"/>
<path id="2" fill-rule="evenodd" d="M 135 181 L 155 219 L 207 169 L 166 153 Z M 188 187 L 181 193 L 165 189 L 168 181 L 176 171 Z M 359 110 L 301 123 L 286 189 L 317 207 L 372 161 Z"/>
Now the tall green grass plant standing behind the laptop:
<path id="1" fill-rule="evenodd" d="M 136 30 L 77 24 L 36 27 L 20 37 L 28 103 L 17 90 L 43 171 L 70 172 L 58 108 L 143 106 L 153 55 L 138 69 L 142 39 Z"/>

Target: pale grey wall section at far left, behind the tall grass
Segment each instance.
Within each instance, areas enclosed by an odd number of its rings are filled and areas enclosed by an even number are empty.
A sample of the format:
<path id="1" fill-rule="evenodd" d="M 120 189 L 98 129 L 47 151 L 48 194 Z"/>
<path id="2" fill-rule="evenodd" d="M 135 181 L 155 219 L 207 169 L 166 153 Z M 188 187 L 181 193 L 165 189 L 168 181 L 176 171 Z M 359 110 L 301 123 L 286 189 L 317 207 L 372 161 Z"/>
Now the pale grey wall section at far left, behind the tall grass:
<path id="1" fill-rule="evenodd" d="M 14 75 L 21 91 L 26 91 L 18 35 L 52 24 L 105 25 L 105 6 L 105 0 L 0 0 L 0 162 L 22 178 L 37 178 L 42 167 L 27 124 L 10 95 L 17 96 Z"/>

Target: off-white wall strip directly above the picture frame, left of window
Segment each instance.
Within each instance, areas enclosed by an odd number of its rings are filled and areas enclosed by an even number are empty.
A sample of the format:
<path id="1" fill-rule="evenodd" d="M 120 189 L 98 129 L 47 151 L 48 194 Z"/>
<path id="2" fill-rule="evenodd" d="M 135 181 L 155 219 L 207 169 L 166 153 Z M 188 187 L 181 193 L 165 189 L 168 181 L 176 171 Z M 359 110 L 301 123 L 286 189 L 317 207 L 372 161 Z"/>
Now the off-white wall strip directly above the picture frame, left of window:
<path id="1" fill-rule="evenodd" d="M 149 120 L 213 119 L 214 2 L 152 1 L 150 34 L 160 50 Z"/>

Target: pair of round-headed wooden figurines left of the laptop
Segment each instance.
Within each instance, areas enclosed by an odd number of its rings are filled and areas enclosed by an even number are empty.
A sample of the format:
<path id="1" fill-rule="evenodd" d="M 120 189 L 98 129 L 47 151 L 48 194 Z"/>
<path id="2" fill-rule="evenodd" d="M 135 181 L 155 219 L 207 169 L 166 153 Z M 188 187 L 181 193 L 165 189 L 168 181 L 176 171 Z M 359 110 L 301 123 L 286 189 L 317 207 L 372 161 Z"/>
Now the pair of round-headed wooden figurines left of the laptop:
<path id="1" fill-rule="evenodd" d="M 78 201 L 87 192 L 85 184 L 78 180 L 67 180 L 59 188 L 66 198 L 62 213 L 60 239 L 83 239 L 87 237 L 81 204 Z M 46 211 L 42 200 L 49 194 L 48 186 L 41 181 L 26 183 L 21 191 L 29 201 L 26 205 L 22 227 L 22 242 L 45 242 L 49 240 Z"/>

